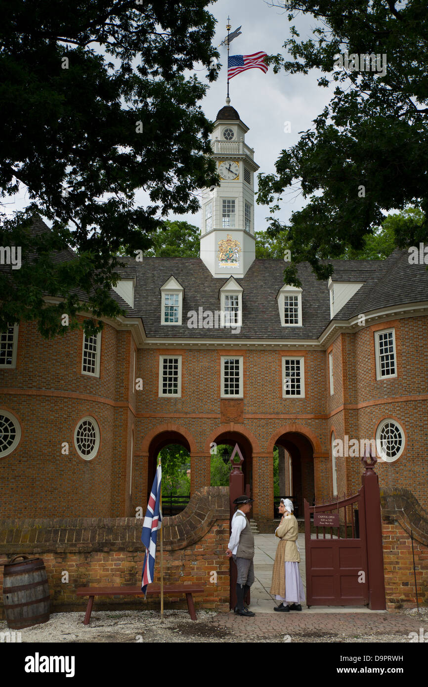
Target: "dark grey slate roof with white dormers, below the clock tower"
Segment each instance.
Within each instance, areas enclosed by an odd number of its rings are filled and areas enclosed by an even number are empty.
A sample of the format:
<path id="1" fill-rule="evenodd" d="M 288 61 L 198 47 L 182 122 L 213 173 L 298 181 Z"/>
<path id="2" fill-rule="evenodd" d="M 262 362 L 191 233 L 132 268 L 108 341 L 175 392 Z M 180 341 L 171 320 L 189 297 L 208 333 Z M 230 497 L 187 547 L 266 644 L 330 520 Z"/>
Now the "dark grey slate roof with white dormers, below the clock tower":
<path id="1" fill-rule="evenodd" d="M 37 220 L 34 232 L 49 231 Z M 72 260 L 74 251 L 60 251 L 55 262 Z M 276 296 L 284 286 L 284 260 L 254 260 L 244 278 L 236 278 L 243 288 L 243 324 L 240 333 L 230 328 L 189 328 L 188 312 L 220 311 L 220 289 L 224 279 L 212 277 L 201 258 L 121 258 L 126 267 L 117 268 L 122 279 L 135 278 L 134 307 L 113 289 L 111 295 L 126 317 L 141 318 L 148 338 L 174 339 L 317 339 L 330 324 L 330 293 L 327 280 L 317 280 L 307 262 L 298 265 L 302 282 L 302 327 L 282 327 Z M 424 264 L 409 264 L 407 250 L 394 250 L 386 260 L 324 260 L 334 267 L 333 282 L 364 282 L 363 286 L 336 313 L 333 321 L 348 320 L 360 313 L 388 306 L 428 302 L 428 271 Z M 5 266 L 3 266 L 5 269 Z M 6 268 L 7 269 L 7 268 Z M 174 278 L 184 289 L 183 324 L 161 324 L 161 286 Z M 87 300 L 87 295 L 76 292 Z"/>

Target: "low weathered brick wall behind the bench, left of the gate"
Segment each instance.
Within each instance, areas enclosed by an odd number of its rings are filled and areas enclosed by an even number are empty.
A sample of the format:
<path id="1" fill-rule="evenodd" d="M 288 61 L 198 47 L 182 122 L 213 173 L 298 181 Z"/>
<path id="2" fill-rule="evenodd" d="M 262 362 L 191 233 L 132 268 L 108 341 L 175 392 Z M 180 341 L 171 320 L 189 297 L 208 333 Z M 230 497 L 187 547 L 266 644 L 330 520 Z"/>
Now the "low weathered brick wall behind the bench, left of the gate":
<path id="1" fill-rule="evenodd" d="M 7 556 L 10 560 L 18 553 L 40 556 L 47 571 L 51 611 L 79 610 L 86 606 L 87 598 L 77 598 L 76 587 L 139 585 L 144 563 L 141 532 L 142 519 L 135 518 L 0 521 L 0 558 Z M 228 610 L 228 541 L 227 488 L 201 489 L 192 497 L 185 513 L 164 519 L 164 582 L 203 584 L 205 592 L 194 596 L 196 609 Z M 64 572 L 68 572 L 68 583 L 62 582 Z M 185 598 L 176 597 L 166 598 L 165 605 L 187 607 Z M 147 601 L 140 597 L 95 599 L 95 609 L 107 607 L 159 607 L 159 601 L 155 597 L 148 597 Z M 0 616 L 4 617 L 2 606 Z"/>

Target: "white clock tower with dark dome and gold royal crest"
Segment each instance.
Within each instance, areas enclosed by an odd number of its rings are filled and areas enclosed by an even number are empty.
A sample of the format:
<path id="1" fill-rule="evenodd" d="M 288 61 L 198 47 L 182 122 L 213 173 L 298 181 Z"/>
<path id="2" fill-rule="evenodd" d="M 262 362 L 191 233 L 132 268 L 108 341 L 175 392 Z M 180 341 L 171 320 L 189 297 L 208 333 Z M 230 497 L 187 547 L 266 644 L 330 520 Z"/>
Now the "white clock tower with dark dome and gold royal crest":
<path id="1" fill-rule="evenodd" d="M 230 98 L 218 111 L 212 133 L 220 185 L 202 192 L 201 260 L 213 277 L 243 277 L 256 257 L 254 238 L 254 150 L 249 128 Z"/>

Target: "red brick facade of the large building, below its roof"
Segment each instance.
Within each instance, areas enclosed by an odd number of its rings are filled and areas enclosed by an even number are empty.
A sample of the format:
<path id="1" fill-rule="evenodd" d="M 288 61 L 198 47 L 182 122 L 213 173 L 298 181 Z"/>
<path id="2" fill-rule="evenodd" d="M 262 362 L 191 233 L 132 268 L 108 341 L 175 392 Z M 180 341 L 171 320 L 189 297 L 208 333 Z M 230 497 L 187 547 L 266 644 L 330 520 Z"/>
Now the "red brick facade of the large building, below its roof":
<path id="1" fill-rule="evenodd" d="M 374 330 L 394 326 L 398 377 L 376 381 Z M 404 343 L 403 343 L 404 342 Z M 328 350 L 333 350 L 335 394 L 330 396 Z M 21 323 L 16 370 L 0 370 L 0 407 L 21 422 L 19 447 L 0 458 L 0 517 L 119 517 L 145 506 L 148 436 L 170 431 L 174 442 L 191 445 L 192 489 L 210 482 L 210 442 L 227 428 L 230 442 L 245 440 L 253 457 L 254 513 L 273 513 L 273 445 L 298 425 L 314 449 L 317 501 L 333 493 L 330 433 L 336 438 L 374 438 L 385 416 L 405 429 L 407 442 L 393 464 L 377 467 L 381 486 L 412 488 L 428 507 L 428 327 L 426 317 L 405 317 L 339 335 L 326 351 L 286 348 L 235 350 L 244 357 L 244 399 L 240 419 L 222 414 L 220 355 L 226 350 L 139 349 L 135 392 L 129 331 L 106 324 L 102 332 L 100 378 L 82 375 L 82 332 L 52 341 L 34 324 Z M 159 354 L 183 357 L 181 398 L 159 398 Z M 282 356 L 300 355 L 305 398 L 282 398 Z M 98 455 L 86 462 L 74 449 L 74 427 L 93 415 L 100 425 Z M 134 427 L 133 489 L 131 433 Z M 181 439 L 180 439 L 181 438 Z M 69 455 L 60 444 L 69 442 Z M 150 443 L 150 442 L 148 442 Z M 308 458 L 310 458 L 308 456 Z M 249 460 L 249 457 L 247 458 Z M 306 460 L 306 458 L 304 459 Z M 361 484 L 359 458 L 338 459 L 338 491 Z"/>

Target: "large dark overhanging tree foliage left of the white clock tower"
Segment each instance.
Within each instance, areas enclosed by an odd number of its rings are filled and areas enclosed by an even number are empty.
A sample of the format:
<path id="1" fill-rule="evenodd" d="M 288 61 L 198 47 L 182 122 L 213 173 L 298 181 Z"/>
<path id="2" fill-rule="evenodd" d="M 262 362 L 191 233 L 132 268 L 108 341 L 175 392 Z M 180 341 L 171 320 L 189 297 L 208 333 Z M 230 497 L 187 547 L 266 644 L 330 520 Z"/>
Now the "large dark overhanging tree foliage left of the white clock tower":
<path id="1" fill-rule="evenodd" d="M 218 183 L 197 104 L 207 84 L 184 74 L 200 63 L 217 76 L 209 4 L 0 2 L 0 194 L 25 186 L 30 201 L 0 213 L 0 244 L 20 246 L 23 262 L 0 273 L 0 330 L 34 319 L 45 336 L 64 333 L 62 313 L 78 326 L 77 290 L 95 318 L 120 314 L 109 295 L 120 247 L 146 251 L 159 218 L 196 212 L 195 191 Z M 34 213 L 52 232 L 30 234 Z M 61 262 L 54 250 L 67 251 Z"/>

